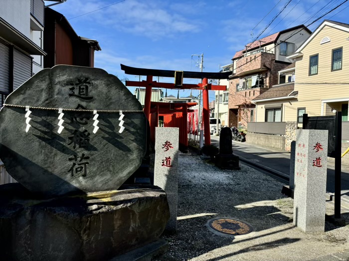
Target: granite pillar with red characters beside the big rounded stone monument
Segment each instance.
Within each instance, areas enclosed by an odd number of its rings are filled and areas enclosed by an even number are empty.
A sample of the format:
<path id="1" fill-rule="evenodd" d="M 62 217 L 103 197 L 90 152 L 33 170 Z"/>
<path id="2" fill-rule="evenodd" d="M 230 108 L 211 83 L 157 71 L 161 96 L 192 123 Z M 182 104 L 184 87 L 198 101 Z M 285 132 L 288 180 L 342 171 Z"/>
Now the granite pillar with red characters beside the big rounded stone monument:
<path id="1" fill-rule="evenodd" d="M 154 185 L 167 194 L 170 220 L 166 230 L 170 232 L 177 229 L 178 139 L 178 128 L 155 129 Z"/>

